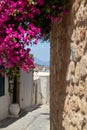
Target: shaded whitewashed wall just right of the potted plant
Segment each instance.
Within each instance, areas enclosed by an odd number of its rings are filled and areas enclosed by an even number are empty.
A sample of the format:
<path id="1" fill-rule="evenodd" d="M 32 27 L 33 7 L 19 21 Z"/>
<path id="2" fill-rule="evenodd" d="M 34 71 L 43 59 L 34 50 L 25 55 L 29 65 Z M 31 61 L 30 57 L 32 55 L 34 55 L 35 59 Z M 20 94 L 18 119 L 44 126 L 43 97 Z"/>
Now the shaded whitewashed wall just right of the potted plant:
<path id="1" fill-rule="evenodd" d="M 21 71 L 20 78 L 20 107 L 22 109 L 28 108 L 32 105 L 33 93 L 33 73 L 25 73 Z"/>

